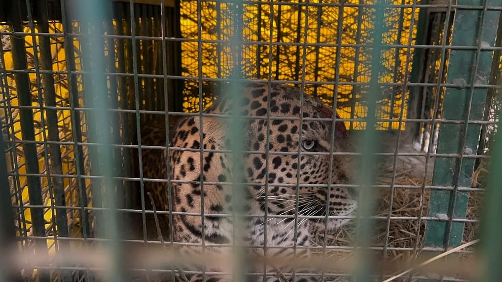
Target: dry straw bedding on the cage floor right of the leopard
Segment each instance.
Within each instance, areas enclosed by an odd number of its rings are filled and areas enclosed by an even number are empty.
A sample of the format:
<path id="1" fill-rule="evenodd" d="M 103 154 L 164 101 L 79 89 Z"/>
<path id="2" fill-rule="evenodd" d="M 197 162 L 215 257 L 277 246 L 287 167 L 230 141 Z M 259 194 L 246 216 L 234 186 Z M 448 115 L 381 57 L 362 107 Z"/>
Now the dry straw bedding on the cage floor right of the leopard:
<path id="1" fill-rule="evenodd" d="M 391 137 L 392 138 L 392 137 Z M 391 139 L 392 140 L 392 139 Z M 388 141 L 388 139 L 387 139 Z M 386 148 L 383 151 L 393 152 L 392 146 L 394 142 L 388 141 Z M 412 151 L 412 143 L 404 142 L 400 146 L 399 152 L 416 152 Z M 481 165 L 473 174 L 472 187 L 482 187 L 484 176 L 487 171 L 485 165 Z M 423 236 L 425 229 L 425 221 L 417 219 L 392 219 L 388 222 L 387 232 L 387 216 L 391 207 L 392 217 L 413 217 L 427 216 L 430 190 L 421 188 L 390 188 L 392 179 L 394 178 L 395 185 L 410 185 L 421 187 L 425 180 L 425 185 L 432 185 L 432 172 L 434 171 L 434 158 L 431 157 L 428 162 L 427 176 L 425 175 L 425 157 L 410 157 L 400 156 L 396 162 L 396 168 L 393 167 L 393 157 L 388 157 L 380 163 L 377 183 L 385 185 L 386 188 L 377 189 L 376 211 L 375 216 L 383 217 L 384 219 L 375 220 L 373 228 L 374 236 L 371 247 L 376 247 L 374 252 L 377 258 L 385 257 L 387 261 L 409 262 L 411 259 L 421 257 L 421 248 L 423 247 Z M 424 179 L 425 178 L 425 179 Z M 393 197 L 391 199 L 391 193 Z M 469 195 L 467 219 L 479 219 L 480 207 L 483 193 L 471 192 Z M 391 203 L 392 202 L 392 203 Z M 462 243 L 467 243 L 478 238 L 477 222 L 468 222 L 464 226 Z M 354 225 L 348 225 L 336 231 L 330 232 L 327 236 L 327 246 L 353 246 L 354 244 Z M 386 243 L 387 241 L 387 243 Z M 324 232 L 317 231 L 312 242 L 316 246 L 324 246 Z M 384 246 L 391 250 L 386 250 L 383 254 Z M 411 250 L 392 250 L 392 248 L 409 248 Z M 474 246 L 466 250 L 474 250 Z M 318 255 L 321 251 L 316 252 Z M 329 249 L 326 255 L 337 259 L 346 259 L 352 256 L 352 250 L 349 249 Z M 461 257 L 470 257 L 469 253 L 463 253 Z"/>

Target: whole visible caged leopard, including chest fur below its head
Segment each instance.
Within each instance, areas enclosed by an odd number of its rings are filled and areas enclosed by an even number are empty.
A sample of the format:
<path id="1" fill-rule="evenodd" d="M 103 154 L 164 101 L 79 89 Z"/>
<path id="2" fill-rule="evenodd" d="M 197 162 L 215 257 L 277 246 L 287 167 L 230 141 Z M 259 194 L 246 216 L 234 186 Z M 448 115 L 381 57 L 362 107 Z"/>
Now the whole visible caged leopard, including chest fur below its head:
<path id="1" fill-rule="evenodd" d="M 218 98 L 203 111 L 204 115 L 182 117 L 171 130 L 172 149 L 164 150 L 163 158 L 169 162 L 172 179 L 174 240 L 214 246 L 233 242 L 232 218 L 226 216 L 235 208 L 229 185 L 235 171 L 229 152 L 232 140 L 228 115 L 237 109 L 240 115 L 249 117 L 243 126 L 244 154 L 238 168 L 245 183 L 243 210 L 249 215 L 244 240 L 258 250 L 266 245 L 267 257 L 308 258 L 308 248 L 293 252 L 293 247 L 308 247 L 313 228 L 332 230 L 347 224 L 357 208 L 356 191 L 347 185 L 352 159 L 343 152 L 352 151 L 353 146 L 345 125 L 333 108 L 298 87 L 249 82 L 243 84 L 238 97 L 237 106 L 235 99 Z M 330 180 L 332 185 L 328 185 Z M 157 189 L 158 195 L 166 195 L 165 185 Z M 167 210 L 166 201 L 161 203 Z M 326 219 L 326 214 L 335 217 Z M 277 274 L 291 272 L 288 267 L 287 263 L 265 266 L 267 275 L 249 279 L 293 281 L 293 277 Z M 255 270 L 263 268 L 257 266 Z M 270 272 L 276 274 L 268 275 Z M 218 274 L 188 277 L 193 282 L 203 278 L 212 282 L 231 280 Z M 295 281 L 318 279 L 316 275 L 295 277 Z"/>

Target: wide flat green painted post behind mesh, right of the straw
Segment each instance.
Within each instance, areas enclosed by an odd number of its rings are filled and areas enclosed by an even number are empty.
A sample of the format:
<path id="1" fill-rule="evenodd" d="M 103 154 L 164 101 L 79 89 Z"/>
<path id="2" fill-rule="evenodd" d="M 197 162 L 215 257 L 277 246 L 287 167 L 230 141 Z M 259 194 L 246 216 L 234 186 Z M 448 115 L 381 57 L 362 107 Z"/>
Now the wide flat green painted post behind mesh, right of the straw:
<path id="1" fill-rule="evenodd" d="M 452 10 L 454 12 L 452 46 L 474 46 L 477 50 L 451 50 L 444 93 L 442 118 L 482 120 L 487 90 L 474 88 L 473 84 L 488 84 L 493 51 L 481 50 L 480 46 L 493 46 L 500 11 L 487 11 L 487 6 L 497 6 L 495 0 L 458 0 L 457 5 L 483 6 L 484 10 Z M 481 33 L 480 33 L 481 32 Z M 439 89 L 438 89 L 439 91 Z M 462 242 L 464 223 L 453 222 L 465 218 L 469 200 L 468 192 L 458 192 L 458 187 L 471 187 L 474 158 L 463 155 L 477 151 L 481 126 L 474 124 L 440 124 L 437 153 L 457 153 L 460 157 L 436 157 L 433 186 L 449 186 L 454 190 L 433 190 L 429 204 L 429 217 L 440 220 L 428 221 L 424 247 L 445 250 Z"/>

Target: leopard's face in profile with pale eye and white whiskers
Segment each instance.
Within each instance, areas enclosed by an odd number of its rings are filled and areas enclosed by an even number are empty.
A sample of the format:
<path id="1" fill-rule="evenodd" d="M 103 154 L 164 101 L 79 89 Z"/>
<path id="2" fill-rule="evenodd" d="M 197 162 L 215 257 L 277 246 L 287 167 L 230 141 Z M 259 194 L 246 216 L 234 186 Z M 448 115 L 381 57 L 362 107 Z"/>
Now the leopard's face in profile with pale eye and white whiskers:
<path id="1" fill-rule="evenodd" d="M 268 208 L 269 214 L 292 216 L 298 208 L 298 215 L 320 217 L 326 215 L 329 202 L 330 216 L 349 215 L 356 207 L 349 189 L 343 186 L 348 183 L 350 158 L 336 154 L 350 150 L 343 123 L 337 122 L 333 128 L 332 109 L 320 101 L 305 97 L 302 105 L 298 88 L 276 85 L 268 96 L 267 90 L 268 86 L 264 84 L 255 86 L 249 93 L 253 98 L 249 103 L 250 115 L 264 115 L 268 99 L 271 98 L 268 177 L 266 154 L 249 154 L 246 157 L 247 180 L 252 183 L 269 183 L 268 204 L 265 203 L 264 185 L 252 186 L 250 189 L 254 200 L 253 210 L 261 214 Z M 289 119 L 292 117 L 294 119 Z M 266 120 L 255 120 L 248 130 L 248 136 L 251 137 L 248 149 L 265 151 Z M 335 154 L 330 156 L 332 149 Z M 329 189 L 328 183 L 333 184 Z M 284 222 L 292 220 L 290 217 L 284 219 Z M 306 222 L 305 219 L 299 221 Z M 328 228 L 333 229 L 348 221 L 347 218 L 329 219 Z M 309 223 L 325 226 L 324 219 L 321 218 L 312 219 Z"/>

